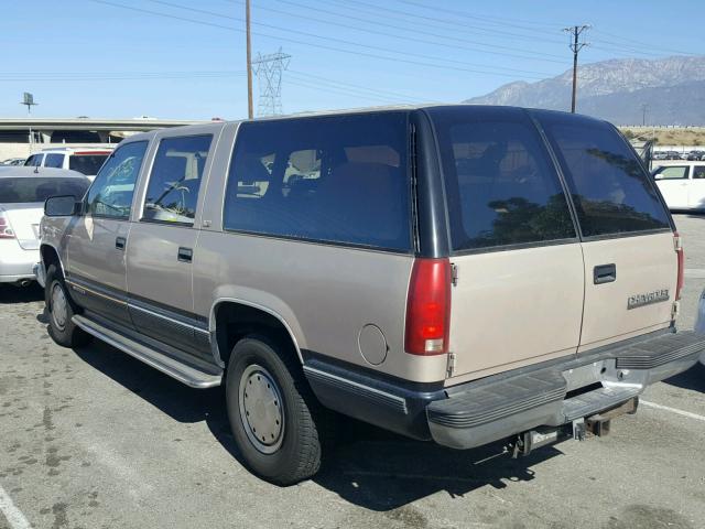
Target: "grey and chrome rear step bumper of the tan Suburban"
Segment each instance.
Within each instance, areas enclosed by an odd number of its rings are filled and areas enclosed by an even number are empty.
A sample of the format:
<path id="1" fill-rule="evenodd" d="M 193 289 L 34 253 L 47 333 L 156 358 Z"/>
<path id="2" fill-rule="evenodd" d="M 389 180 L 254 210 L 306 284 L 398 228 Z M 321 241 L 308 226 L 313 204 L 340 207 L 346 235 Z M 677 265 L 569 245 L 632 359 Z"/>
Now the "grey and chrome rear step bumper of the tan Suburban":
<path id="1" fill-rule="evenodd" d="M 429 429 L 438 444 L 471 449 L 538 427 L 560 427 L 619 407 L 651 384 L 688 369 L 704 353 L 703 335 L 659 334 L 511 377 L 464 384 L 427 406 Z"/>

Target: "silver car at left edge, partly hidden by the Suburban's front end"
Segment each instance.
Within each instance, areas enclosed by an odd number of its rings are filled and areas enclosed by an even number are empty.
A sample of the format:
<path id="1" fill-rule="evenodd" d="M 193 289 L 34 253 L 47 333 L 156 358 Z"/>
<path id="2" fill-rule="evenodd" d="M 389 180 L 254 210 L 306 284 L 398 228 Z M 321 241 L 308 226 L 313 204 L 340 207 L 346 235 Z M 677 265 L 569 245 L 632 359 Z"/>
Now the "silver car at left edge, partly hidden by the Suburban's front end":
<path id="1" fill-rule="evenodd" d="M 28 284 L 40 262 L 40 220 L 53 195 L 80 199 L 90 181 L 62 169 L 0 168 L 0 282 Z"/>

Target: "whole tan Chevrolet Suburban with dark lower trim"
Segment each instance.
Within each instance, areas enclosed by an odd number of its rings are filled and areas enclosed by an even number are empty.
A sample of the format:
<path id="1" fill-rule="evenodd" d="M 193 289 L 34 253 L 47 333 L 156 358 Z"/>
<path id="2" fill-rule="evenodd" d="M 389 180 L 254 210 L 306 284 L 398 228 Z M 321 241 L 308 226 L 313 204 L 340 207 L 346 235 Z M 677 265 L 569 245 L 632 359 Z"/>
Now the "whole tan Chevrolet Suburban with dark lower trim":
<path id="1" fill-rule="evenodd" d="M 683 250 L 609 123 L 427 106 L 137 134 L 45 205 L 50 331 L 226 386 L 248 466 L 312 476 L 339 414 L 516 454 L 604 434 L 692 366 Z"/>

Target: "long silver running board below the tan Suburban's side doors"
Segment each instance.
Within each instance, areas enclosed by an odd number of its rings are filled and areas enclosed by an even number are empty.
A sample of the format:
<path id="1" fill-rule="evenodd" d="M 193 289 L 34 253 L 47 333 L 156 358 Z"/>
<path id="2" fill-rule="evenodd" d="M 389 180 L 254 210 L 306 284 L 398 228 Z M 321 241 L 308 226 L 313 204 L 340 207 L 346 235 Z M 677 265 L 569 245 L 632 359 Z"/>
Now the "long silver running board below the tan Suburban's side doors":
<path id="1" fill-rule="evenodd" d="M 159 369 L 165 375 L 175 378 L 180 382 L 185 384 L 192 388 L 205 389 L 220 386 L 223 380 L 221 375 L 214 375 L 212 373 L 205 373 L 195 367 L 185 365 L 175 358 L 166 356 L 162 353 L 158 353 L 154 349 L 147 347 L 131 338 L 128 338 L 110 328 L 107 328 L 99 323 L 88 320 L 82 315 L 75 315 L 72 321 L 86 333 L 95 336 L 96 338 L 109 344 L 130 356 L 133 356 L 138 360 L 142 360 L 144 364 L 152 366 L 154 369 Z"/>

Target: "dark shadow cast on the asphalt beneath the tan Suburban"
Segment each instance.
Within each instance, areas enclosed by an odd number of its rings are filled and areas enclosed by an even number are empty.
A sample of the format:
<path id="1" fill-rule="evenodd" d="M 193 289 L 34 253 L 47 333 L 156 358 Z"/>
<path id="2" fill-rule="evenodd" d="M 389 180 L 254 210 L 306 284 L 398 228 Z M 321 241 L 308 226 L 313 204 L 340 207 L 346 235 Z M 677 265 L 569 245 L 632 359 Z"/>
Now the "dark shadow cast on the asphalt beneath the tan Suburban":
<path id="1" fill-rule="evenodd" d="M 243 464 L 230 433 L 221 387 L 187 388 L 97 341 L 74 350 L 91 367 L 175 421 L 205 421 L 214 438 Z M 313 482 L 351 504 L 378 511 L 398 509 L 442 490 L 455 497 L 485 486 L 503 488 L 510 482 L 529 482 L 534 478 L 531 467 L 562 455 L 549 446 L 511 458 L 501 443 L 455 451 L 348 418 L 340 419 L 339 428 L 340 441 L 329 451 Z"/>

